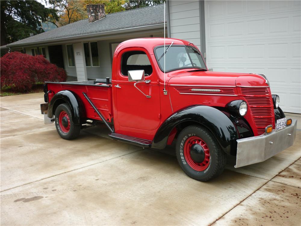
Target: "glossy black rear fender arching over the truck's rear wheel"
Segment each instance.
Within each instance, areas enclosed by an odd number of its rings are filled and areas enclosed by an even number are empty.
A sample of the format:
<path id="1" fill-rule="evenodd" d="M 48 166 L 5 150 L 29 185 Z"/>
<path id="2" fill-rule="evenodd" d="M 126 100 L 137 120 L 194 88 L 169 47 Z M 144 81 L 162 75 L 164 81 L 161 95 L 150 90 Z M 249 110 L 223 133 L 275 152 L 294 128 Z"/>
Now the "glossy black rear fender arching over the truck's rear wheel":
<path id="1" fill-rule="evenodd" d="M 67 103 L 70 106 L 72 121 L 74 124 L 81 124 L 80 117 L 82 113 L 82 104 L 77 95 L 69 90 L 62 90 L 57 92 L 51 99 L 48 106 L 47 116 L 52 118 L 55 108 L 58 103 Z"/>

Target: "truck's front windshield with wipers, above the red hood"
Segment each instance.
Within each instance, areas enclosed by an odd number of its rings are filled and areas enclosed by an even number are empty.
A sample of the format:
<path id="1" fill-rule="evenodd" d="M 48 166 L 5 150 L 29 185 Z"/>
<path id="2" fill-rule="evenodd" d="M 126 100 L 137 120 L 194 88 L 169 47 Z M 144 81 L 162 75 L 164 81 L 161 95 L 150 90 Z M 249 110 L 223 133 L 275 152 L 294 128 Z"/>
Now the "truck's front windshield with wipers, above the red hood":
<path id="1" fill-rule="evenodd" d="M 168 48 L 167 45 L 157 47 L 155 49 L 155 55 L 161 71 L 164 72 L 164 56 L 160 56 Z M 165 55 L 165 72 L 175 71 L 183 68 L 197 68 L 206 69 L 206 65 L 203 61 L 200 52 L 193 46 L 171 46 Z"/>

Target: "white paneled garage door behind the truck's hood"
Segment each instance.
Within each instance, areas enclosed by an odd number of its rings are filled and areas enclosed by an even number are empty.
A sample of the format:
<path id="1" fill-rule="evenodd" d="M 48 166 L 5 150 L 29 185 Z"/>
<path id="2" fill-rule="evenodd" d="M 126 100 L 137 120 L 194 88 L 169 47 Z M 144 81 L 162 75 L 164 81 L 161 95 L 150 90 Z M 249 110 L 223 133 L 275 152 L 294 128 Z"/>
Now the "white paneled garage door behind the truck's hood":
<path id="1" fill-rule="evenodd" d="M 263 73 L 286 112 L 300 112 L 300 1 L 205 1 L 207 65 Z"/>

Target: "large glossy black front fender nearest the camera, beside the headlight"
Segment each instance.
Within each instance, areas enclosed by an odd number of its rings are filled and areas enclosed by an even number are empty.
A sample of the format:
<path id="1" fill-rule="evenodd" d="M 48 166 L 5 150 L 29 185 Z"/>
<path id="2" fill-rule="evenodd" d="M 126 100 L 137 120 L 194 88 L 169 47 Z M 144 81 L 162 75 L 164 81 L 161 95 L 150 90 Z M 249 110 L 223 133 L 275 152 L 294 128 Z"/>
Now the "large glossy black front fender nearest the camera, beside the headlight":
<path id="1" fill-rule="evenodd" d="M 238 133 L 231 120 L 218 109 L 204 105 L 190 106 L 167 118 L 157 131 L 152 148 L 165 148 L 169 133 L 184 122 L 195 122 L 206 127 L 227 154 L 230 154 L 231 146 L 235 148 Z"/>

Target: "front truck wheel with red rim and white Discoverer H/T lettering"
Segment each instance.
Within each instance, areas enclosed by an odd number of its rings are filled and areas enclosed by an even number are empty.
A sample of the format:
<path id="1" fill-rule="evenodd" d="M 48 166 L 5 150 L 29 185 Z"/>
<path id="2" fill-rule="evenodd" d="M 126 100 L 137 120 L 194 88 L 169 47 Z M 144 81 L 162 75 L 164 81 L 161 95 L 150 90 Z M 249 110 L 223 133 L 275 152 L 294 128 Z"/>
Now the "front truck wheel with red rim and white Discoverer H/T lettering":
<path id="1" fill-rule="evenodd" d="M 183 171 L 191 178 L 207 181 L 225 168 L 227 155 L 213 134 L 204 127 L 188 126 L 178 135 L 176 155 Z"/>

